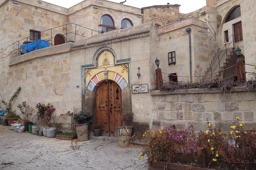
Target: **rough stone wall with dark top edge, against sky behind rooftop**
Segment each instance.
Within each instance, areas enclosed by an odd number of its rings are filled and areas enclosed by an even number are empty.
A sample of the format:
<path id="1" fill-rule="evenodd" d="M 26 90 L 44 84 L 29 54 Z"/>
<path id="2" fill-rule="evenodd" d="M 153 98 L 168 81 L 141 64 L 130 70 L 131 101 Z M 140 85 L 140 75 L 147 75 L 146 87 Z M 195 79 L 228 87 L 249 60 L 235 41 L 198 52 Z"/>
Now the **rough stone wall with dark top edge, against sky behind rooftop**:
<path id="1" fill-rule="evenodd" d="M 154 22 L 157 26 L 167 26 L 179 21 L 180 5 L 155 5 L 142 8 L 142 23 Z"/>

